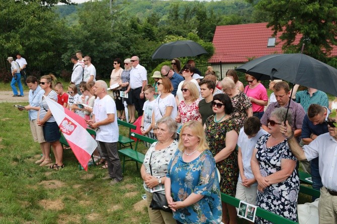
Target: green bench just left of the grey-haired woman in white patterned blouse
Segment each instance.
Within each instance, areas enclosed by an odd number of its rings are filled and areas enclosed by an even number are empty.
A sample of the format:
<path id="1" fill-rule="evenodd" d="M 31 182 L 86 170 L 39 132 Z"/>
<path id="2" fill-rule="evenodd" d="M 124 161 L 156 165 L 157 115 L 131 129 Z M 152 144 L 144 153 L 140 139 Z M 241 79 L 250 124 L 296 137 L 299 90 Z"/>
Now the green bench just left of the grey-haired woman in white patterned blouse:
<path id="1" fill-rule="evenodd" d="M 124 172 L 124 167 L 125 167 L 125 162 L 126 161 L 135 161 L 136 162 L 136 166 L 137 166 L 137 170 L 138 170 L 138 163 L 143 163 L 144 161 L 144 154 L 137 152 L 137 148 L 138 148 L 138 143 L 140 141 L 144 141 L 147 143 L 154 143 L 157 142 L 156 139 L 150 139 L 149 137 L 143 136 L 143 135 L 139 135 L 137 133 L 131 133 L 131 136 L 136 138 L 136 146 L 134 146 L 134 149 L 132 148 L 126 148 L 126 149 L 120 149 L 118 150 L 118 152 L 121 154 L 122 156 L 122 172 Z M 138 141 L 140 140 L 140 141 Z M 125 158 L 128 157 L 130 159 L 125 160 Z"/>

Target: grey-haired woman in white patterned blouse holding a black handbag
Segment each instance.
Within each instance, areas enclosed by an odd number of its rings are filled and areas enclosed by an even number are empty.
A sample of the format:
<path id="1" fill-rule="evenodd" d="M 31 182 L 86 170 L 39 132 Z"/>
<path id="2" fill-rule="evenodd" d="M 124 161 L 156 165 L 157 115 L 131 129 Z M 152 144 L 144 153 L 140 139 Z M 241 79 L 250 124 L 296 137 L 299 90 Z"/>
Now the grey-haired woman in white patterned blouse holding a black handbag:
<path id="1" fill-rule="evenodd" d="M 148 202 L 148 212 L 151 223 L 175 223 L 172 213 L 163 210 L 154 210 L 150 206 L 153 190 L 162 187 L 167 174 L 167 166 L 178 148 L 176 138 L 177 123 L 170 117 L 164 117 L 157 122 L 157 139 L 145 154 L 141 175 L 144 180 L 144 189 Z"/>

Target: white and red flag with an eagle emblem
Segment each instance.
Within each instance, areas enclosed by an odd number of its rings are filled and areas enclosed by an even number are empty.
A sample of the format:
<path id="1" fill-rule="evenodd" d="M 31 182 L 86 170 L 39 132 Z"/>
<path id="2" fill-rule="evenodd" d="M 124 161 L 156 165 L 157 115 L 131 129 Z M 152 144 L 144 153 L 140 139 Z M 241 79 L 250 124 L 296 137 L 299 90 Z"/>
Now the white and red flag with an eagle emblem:
<path id="1" fill-rule="evenodd" d="M 88 170 L 88 162 L 97 147 L 96 141 L 87 132 L 87 123 L 81 116 L 75 114 L 57 102 L 45 97 L 51 114 L 64 138 L 73 150 L 77 160 Z"/>

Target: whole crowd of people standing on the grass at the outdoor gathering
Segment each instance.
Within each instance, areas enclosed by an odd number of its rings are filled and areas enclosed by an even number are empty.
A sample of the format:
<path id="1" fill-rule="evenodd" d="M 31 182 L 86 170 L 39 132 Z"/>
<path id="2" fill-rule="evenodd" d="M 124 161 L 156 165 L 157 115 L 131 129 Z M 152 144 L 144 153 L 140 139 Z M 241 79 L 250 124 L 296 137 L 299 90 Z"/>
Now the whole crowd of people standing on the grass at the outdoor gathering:
<path id="1" fill-rule="evenodd" d="M 295 86 L 291 96 L 287 82 L 272 80 L 268 99 L 254 76 L 245 75 L 244 87 L 235 70 L 219 81 L 212 67 L 201 76 L 194 61 L 182 66 L 178 58 L 171 67 L 155 71 L 155 84 L 150 85 L 137 56 L 124 59 L 124 69 L 122 60 L 114 59 L 109 91 L 105 81 L 96 81 L 89 56 L 77 52 L 71 60 L 67 92 L 51 74 L 26 80 L 30 92 L 25 109 L 42 151 L 36 161 L 40 166 L 64 167 L 59 129 L 42 95 L 98 130 L 95 162 L 108 169 L 104 179 L 111 185 L 123 179 L 117 119 L 133 123 L 137 111 L 141 134 L 158 140 L 148 145 L 141 168 L 151 223 L 236 223 L 237 210 L 221 201 L 221 192 L 296 221 L 298 160 L 307 160 L 302 165 L 321 192 L 320 222 L 336 221 L 337 115 L 331 106 L 337 103 L 329 105 L 324 92 L 311 87 L 297 91 Z M 18 69 L 13 63 L 12 74 L 18 75 Z M 171 212 L 150 207 L 158 187 Z M 267 223 L 258 217 L 255 221 Z"/>

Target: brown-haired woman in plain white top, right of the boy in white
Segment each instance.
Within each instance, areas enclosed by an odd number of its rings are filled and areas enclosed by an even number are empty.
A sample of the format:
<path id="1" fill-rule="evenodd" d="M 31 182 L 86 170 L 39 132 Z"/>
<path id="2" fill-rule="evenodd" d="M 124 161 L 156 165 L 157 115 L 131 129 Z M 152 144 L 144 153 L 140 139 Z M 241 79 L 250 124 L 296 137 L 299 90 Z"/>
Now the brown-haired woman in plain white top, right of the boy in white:
<path id="1" fill-rule="evenodd" d="M 172 83 L 167 77 L 158 79 L 158 92 L 161 94 L 155 99 L 152 114 L 152 129 L 156 134 L 156 122 L 163 117 L 171 117 L 173 120 L 177 117 L 177 104 L 174 95 Z"/>

